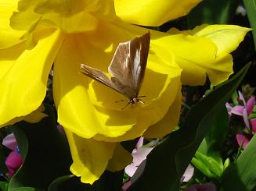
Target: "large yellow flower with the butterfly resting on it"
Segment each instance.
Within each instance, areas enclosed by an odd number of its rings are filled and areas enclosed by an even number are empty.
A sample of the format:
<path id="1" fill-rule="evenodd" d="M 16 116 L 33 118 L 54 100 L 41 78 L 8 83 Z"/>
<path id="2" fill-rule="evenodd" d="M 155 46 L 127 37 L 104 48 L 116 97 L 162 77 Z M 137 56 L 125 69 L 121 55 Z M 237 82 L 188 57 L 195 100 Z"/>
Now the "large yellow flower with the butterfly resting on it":
<path id="1" fill-rule="evenodd" d="M 187 84 L 203 84 L 206 75 L 214 84 L 226 80 L 232 73 L 229 52 L 248 29 L 152 30 L 140 90 L 145 104 L 125 110 L 124 97 L 82 75 L 80 65 L 106 72 L 118 43 L 148 31 L 128 23 L 157 26 L 198 2 L 0 0 L 0 126 L 41 105 L 54 63 L 53 96 L 74 161 L 70 171 L 92 184 L 106 168 L 124 168 L 131 157 L 119 142 L 170 133 L 178 122 L 181 79 Z M 233 37 L 226 38 L 229 34 Z"/>

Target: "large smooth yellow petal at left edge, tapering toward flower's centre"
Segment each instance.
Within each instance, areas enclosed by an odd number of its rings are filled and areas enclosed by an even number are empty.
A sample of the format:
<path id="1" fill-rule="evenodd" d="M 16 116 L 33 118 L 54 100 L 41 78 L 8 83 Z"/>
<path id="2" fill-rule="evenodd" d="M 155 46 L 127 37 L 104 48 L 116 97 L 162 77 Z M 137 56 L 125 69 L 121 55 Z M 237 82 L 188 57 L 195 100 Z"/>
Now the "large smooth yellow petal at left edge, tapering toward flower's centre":
<path id="1" fill-rule="evenodd" d="M 46 92 L 49 71 L 59 49 L 59 31 L 25 50 L 0 80 L 0 124 L 27 115 L 39 107 Z M 40 52 L 40 53 L 39 53 Z M 0 65 L 6 62 L 0 61 Z"/>

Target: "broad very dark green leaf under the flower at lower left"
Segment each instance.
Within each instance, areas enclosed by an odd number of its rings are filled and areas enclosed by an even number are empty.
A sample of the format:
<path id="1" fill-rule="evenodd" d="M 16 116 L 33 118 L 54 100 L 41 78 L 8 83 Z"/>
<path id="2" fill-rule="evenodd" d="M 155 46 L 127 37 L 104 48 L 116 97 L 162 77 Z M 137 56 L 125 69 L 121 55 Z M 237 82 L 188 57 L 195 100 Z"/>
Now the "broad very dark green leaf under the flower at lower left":
<path id="1" fill-rule="evenodd" d="M 23 165 L 10 180 L 10 191 L 20 190 L 20 187 L 47 190 L 53 179 L 70 174 L 72 161 L 67 140 L 56 127 L 52 108 L 48 105 L 45 108 L 49 117 L 41 122 L 19 122 L 12 127 L 23 156 Z"/>

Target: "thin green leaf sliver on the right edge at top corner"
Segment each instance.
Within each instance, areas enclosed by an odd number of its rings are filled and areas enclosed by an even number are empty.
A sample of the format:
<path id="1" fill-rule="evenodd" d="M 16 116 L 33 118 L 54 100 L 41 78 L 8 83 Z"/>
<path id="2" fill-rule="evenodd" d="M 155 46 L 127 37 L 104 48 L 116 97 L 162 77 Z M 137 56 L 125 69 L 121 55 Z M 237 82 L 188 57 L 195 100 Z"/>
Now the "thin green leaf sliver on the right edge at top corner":
<path id="1" fill-rule="evenodd" d="M 247 10 L 247 16 L 251 24 L 252 34 L 254 35 L 254 48 L 256 50 L 256 0 L 243 0 L 245 9 Z"/>

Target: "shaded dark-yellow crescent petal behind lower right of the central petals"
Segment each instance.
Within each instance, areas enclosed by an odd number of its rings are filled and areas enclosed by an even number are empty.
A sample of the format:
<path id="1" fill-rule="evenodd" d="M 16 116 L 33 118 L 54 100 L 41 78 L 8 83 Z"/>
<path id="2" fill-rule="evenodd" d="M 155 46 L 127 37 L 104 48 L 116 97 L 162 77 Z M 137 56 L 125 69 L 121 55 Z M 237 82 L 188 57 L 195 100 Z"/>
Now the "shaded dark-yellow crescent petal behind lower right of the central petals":
<path id="1" fill-rule="evenodd" d="M 181 91 L 175 97 L 173 104 L 168 110 L 168 113 L 164 115 L 164 118 L 157 122 L 153 126 L 143 133 L 145 138 L 160 138 L 171 133 L 174 127 L 178 124 L 178 119 L 180 115 L 180 109 L 182 104 L 182 93 Z"/>

